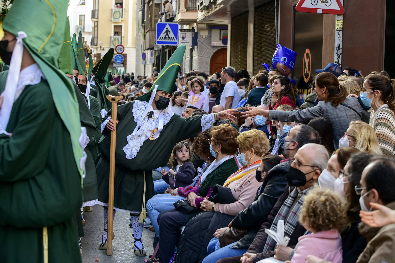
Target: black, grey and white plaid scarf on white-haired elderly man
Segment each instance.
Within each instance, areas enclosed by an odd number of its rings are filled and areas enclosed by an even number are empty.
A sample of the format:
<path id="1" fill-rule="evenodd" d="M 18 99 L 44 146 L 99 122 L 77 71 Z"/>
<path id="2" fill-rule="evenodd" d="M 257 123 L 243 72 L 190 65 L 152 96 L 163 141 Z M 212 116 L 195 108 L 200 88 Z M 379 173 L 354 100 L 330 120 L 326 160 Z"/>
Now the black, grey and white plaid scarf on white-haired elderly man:
<path id="1" fill-rule="evenodd" d="M 278 211 L 276 217 L 273 220 L 273 223 L 270 226 L 270 230 L 277 231 L 278 220 L 284 220 L 286 218 L 290 208 L 293 205 L 293 202 L 295 201 L 295 198 L 297 196 L 300 196 L 299 200 L 297 201 L 290 215 L 288 216 L 287 221 L 284 223 L 284 236 L 288 236 L 288 237 L 292 236 L 293 230 L 295 230 L 295 227 L 299 220 L 299 213 L 301 206 L 303 205 L 303 198 L 310 190 L 310 188 L 311 187 L 301 192 L 299 192 L 296 187 L 293 189 L 291 194 L 288 196 L 288 198 L 284 201 L 284 203 L 280 207 L 280 210 Z M 276 246 L 276 241 L 268 235 L 265 246 L 263 247 L 263 253 L 269 250 L 273 250 L 275 246 Z"/>

